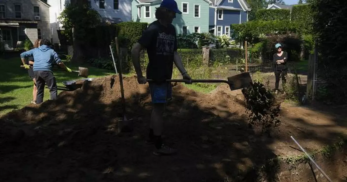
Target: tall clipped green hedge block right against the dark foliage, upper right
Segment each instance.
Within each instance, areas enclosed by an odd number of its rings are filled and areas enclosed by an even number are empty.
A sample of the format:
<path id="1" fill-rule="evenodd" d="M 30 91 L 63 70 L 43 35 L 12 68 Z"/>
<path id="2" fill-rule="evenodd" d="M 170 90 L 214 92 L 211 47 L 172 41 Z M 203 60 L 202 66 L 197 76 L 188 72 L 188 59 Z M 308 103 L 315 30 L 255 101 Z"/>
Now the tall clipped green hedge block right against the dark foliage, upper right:
<path id="1" fill-rule="evenodd" d="M 313 31 L 313 16 L 311 6 L 295 5 L 291 10 L 291 21 L 297 24 L 298 31 L 303 34 L 311 34 Z"/>

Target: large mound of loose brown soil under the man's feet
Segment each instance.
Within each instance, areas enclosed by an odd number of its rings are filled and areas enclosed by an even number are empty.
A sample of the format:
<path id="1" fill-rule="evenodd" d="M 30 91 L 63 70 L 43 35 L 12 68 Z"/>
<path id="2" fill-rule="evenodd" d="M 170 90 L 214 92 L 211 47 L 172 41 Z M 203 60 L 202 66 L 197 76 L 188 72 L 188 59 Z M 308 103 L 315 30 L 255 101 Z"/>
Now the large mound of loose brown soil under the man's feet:
<path id="1" fill-rule="evenodd" d="M 278 175 L 256 171 L 268 159 L 302 154 L 290 136 L 313 151 L 347 133 L 341 114 L 346 109 L 329 114 L 282 103 L 282 123 L 266 137 L 248 127 L 240 90 L 230 91 L 225 84 L 202 94 L 177 84 L 164 114 L 163 139 L 178 154 L 154 156 L 154 146 L 144 142 L 151 113 L 148 85 L 124 77 L 132 133 L 117 130 L 119 88 L 118 76 L 96 78 L 81 89 L 61 92 L 57 100 L 2 116 L 1 181 L 276 181 Z M 344 160 L 339 161 L 326 166 L 346 171 Z M 342 169 L 330 170 L 330 177 L 344 179 Z"/>

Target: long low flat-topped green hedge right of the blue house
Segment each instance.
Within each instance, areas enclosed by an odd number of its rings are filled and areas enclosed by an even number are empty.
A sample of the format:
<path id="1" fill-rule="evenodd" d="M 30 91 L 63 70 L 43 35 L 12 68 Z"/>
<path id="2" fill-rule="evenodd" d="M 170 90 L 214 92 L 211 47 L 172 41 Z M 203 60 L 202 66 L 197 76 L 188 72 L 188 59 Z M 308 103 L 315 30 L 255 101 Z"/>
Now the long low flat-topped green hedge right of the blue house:
<path id="1" fill-rule="evenodd" d="M 296 24 L 289 20 L 249 21 L 242 24 L 232 24 L 231 29 L 232 38 L 237 42 L 247 41 L 248 43 L 261 41 L 260 36 L 263 34 L 282 35 L 297 32 Z"/>

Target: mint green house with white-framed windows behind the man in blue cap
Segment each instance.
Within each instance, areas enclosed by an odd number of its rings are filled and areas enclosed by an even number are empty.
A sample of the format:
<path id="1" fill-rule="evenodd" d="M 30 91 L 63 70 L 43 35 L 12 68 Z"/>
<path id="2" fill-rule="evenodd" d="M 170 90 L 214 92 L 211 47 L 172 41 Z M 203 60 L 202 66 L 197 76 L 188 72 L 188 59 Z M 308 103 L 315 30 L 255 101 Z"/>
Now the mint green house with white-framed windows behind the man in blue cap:
<path id="1" fill-rule="evenodd" d="M 155 8 L 162 0 L 133 0 L 132 20 L 134 22 L 152 23 L 156 20 Z M 209 0 L 176 0 L 182 14 L 176 14 L 172 24 L 177 34 L 209 32 Z"/>

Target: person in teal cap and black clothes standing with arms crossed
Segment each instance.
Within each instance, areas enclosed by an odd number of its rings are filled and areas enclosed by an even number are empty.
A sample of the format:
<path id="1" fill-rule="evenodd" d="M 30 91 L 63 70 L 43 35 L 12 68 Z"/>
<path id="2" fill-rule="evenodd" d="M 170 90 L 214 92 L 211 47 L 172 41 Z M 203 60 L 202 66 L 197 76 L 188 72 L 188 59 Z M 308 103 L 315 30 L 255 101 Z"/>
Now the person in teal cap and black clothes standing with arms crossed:
<path id="1" fill-rule="evenodd" d="M 280 78 L 282 77 L 282 88 L 283 88 L 283 85 L 286 84 L 287 82 L 286 76 L 288 72 L 288 67 L 287 67 L 288 54 L 287 52 L 282 50 L 282 45 L 280 43 L 277 43 L 275 45 L 275 48 L 277 49 L 277 52 L 273 54 L 273 63 L 274 63 L 274 73 L 276 77 L 275 93 L 277 94 Z"/>

